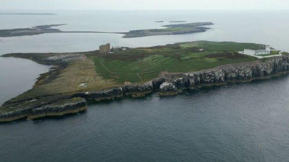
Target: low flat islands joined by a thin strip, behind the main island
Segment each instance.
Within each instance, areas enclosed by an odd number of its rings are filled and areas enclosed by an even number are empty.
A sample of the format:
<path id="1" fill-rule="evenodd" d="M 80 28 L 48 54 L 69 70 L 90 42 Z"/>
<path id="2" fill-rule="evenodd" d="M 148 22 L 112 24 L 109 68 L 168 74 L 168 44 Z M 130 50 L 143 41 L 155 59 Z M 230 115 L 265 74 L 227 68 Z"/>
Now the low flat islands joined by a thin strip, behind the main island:
<path id="1" fill-rule="evenodd" d="M 18 29 L 4 29 L 0 30 L 0 37 L 18 37 L 24 35 L 38 35 L 44 33 L 111 33 L 123 34 L 123 38 L 131 37 L 146 37 L 152 35 L 177 35 L 188 34 L 195 32 L 205 32 L 210 29 L 208 27 L 201 27 L 205 25 L 212 25 L 212 22 L 195 22 L 187 24 L 171 24 L 164 25 L 162 29 L 145 29 L 145 30 L 131 30 L 129 32 L 98 32 L 98 31 L 62 31 L 59 29 L 51 28 L 66 24 L 51 24 L 51 25 L 38 25 L 31 28 L 18 28 Z"/>

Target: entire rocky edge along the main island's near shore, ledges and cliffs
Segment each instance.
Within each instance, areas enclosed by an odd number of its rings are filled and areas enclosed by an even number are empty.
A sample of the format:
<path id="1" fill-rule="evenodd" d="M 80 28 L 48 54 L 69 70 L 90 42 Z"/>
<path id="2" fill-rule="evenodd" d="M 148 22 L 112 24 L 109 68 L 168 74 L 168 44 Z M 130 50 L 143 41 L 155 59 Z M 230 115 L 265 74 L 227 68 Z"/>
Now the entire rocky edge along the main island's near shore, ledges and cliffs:
<path id="1" fill-rule="evenodd" d="M 131 84 L 105 91 L 89 91 L 72 94 L 74 102 L 65 104 L 28 107 L 21 110 L 0 113 L 0 122 L 9 122 L 20 118 L 34 119 L 44 116 L 59 116 L 77 113 L 87 109 L 86 100 L 106 100 L 123 96 L 141 97 L 158 91 L 160 96 L 176 95 L 183 89 L 221 86 L 228 83 L 250 82 L 289 72 L 289 56 L 268 58 L 247 63 L 228 64 L 212 69 L 188 73 L 169 73 L 144 84 Z"/>

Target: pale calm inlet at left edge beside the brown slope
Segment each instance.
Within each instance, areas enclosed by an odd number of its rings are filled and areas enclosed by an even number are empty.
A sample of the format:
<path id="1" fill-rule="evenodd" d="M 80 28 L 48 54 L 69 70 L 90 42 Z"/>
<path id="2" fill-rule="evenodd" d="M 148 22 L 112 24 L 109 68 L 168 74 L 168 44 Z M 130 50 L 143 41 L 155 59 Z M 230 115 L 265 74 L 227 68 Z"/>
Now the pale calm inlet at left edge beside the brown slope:
<path id="1" fill-rule="evenodd" d="M 0 106 L 31 89 L 39 74 L 48 72 L 50 67 L 28 59 L 0 57 Z"/>

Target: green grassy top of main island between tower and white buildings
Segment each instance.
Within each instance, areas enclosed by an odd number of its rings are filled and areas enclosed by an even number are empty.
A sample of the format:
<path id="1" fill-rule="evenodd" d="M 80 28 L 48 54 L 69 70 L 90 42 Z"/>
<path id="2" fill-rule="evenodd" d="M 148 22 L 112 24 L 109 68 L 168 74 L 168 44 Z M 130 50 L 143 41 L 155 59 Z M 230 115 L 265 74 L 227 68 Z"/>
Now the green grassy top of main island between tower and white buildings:
<path id="1" fill-rule="evenodd" d="M 241 63 L 257 58 L 238 54 L 244 48 L 261 49 L 264 45 L 236 42 L 184 42 L 150 48 L 134 48 L 119 53 L 89 57 L 96 72 L 118 83 L 143 82 L 163 71 L 189 72 L 219 65 Z"/>

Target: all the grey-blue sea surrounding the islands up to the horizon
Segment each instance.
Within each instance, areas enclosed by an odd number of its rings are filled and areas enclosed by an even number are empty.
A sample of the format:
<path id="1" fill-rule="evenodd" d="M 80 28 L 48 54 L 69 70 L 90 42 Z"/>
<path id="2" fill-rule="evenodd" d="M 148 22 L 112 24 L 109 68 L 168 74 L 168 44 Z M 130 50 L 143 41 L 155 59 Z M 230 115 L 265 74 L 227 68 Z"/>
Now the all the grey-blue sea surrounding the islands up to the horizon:
<path id="1" fill-rule="evenodd" d="M 1 12 L 25 12 L 1 11 Z M 31 12 L 31 11 L 27 11 Z M 33 11 L 34 12 L 34 11 Z M 169 21 L 213 22 L 186 35 L 46 33 L 0 37 L 6 53 L 75 52 L 98 46 L 149 47 L 195 40 L 269 44 L 289 51 L 289 11 L 35 11 L 0 15 L 0 29 L 66 24 L 63 31 L 127 32 Z M 155 22 L 164 21 L 164 22 Z M 32 88 L 52 66 L 0 57 L 0 105 Z M 89 102 L 86 112 L 0 124 L 0 161 L 289 161 L 289 77 Z"/>

